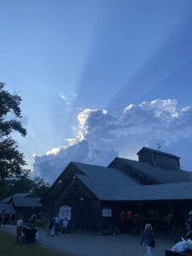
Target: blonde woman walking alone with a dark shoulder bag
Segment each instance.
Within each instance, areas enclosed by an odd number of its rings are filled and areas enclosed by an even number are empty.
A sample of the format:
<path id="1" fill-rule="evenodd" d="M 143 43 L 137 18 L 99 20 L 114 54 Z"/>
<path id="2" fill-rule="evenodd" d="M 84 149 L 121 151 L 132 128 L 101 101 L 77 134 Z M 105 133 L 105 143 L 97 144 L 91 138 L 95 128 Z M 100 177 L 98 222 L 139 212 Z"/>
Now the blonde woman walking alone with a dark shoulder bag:
<path id="1" fill-rule="evenodd" d="M 152 256 L 151 247 L 152 247 L 153 236 L 154 234 L 153 234 L 153 228 L 151 224 L 146 224 L 143 230 L 143 236 L 141 240 L 141 245 L 143 244 L 143 241 L 144 241 L 144 244 L 147 249 L 147 253 L 145 254 L 145 256 Z"/>

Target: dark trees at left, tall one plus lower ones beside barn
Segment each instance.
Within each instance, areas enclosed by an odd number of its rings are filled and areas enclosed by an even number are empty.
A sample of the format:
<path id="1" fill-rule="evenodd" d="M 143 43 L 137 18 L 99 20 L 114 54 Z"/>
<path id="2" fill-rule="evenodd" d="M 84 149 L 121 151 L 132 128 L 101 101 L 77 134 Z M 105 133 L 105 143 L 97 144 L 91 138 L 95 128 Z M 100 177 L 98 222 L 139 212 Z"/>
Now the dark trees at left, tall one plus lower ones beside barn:
<path id="1" fill-rule="evenodd" d="M 21 97 L 16 93 L 10 94 L 4 86 L 0 83 L 0 199 L 29 191 L 42 197 L 49 189 L 49 183 L 41 177 L 29 177 L 30 171 L 24 168 L 24 155 L 11 136 L 13 131 L 26 136 L 26 129 L 21 123 Z"/>

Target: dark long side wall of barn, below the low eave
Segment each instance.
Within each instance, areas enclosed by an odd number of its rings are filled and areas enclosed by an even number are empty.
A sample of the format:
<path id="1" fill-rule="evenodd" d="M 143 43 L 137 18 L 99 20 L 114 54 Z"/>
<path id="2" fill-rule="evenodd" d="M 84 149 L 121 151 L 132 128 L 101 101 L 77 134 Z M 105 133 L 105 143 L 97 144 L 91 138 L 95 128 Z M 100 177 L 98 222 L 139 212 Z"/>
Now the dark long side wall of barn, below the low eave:
<path id="1" fill-rule="evenodd" d="M 191 211 L 192 201 L 102 201 L 102 208 L 112 209 L 111 217 L 102 217 L 102 234 L 142 232 L 148 223 L 154 232 L 183 232 L 184 216 Z"/>

